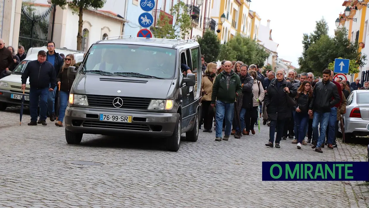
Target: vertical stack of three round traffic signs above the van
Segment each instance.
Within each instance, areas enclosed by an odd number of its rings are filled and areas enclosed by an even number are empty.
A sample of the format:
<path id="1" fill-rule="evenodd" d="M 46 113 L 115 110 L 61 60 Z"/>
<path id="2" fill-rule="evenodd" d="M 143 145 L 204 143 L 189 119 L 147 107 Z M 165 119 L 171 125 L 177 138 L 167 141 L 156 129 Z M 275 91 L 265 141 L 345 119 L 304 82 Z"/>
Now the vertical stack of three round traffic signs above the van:
<path id="1" fill-rule="evenodd" d="M 144 13 L 138 16 L 138 24 L 144 29 L 138 31 L 137 37 L 152 38 L 152 33 L 148 28 L 154 23 L 154 17 L 149 11 L 155 8 L 155 0 L 141 0 L 140 7 Z"/>

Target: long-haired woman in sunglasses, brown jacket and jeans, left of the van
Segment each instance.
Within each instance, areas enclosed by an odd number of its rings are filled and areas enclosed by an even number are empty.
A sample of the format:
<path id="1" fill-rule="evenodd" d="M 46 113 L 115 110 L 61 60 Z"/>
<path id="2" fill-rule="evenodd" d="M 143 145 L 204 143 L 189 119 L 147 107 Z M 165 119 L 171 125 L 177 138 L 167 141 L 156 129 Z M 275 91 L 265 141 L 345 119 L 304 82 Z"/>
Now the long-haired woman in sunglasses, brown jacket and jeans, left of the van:
<path id="1" fill-rule="evenodd" d="M 74 74 L 68 72 L 68 67 L 75 66 L 76 61 L 73 54 L 68 54 L 65 57 L 65 61 L 62 69 L 60 70 L 58 76 L 56 77 L 57 87 L 60 86 L 60 108 L 58 121 L 55 122 L 55 126 L 63 126 L 63 118 L 65 115 L 65 109 L 67 108 L 69 91 L 72 88 L 72 84 L 75 78 Z"/>

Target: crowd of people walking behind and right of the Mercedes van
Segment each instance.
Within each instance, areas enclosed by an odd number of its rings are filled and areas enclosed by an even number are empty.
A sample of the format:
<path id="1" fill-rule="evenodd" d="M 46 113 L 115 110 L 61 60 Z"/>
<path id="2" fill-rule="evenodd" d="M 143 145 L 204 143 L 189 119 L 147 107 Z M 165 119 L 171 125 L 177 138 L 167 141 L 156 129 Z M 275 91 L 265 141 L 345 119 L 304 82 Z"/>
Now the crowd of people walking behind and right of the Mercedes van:
<path id="1" fill-rule="evenodd" d="M 289 138 L 297 149 L 311 143 L 311 148 L 323 153 L 325 145 L 337 147 L 338 122 L 350 93 L 369 89 L 369 82 L 361 86 L 360 79 L 333 80 L 330 69 L 323 71 L 322 78 L 284 69 L 262 74 L 255 64 L 223 60 L 217 68 L 216 62 L 206 64 L 203 59 L 200 128 L 203 124 L 203 132 L 212 132 L 215 120 L 216 141 L 255 134 L 254 127 L 262 119 L 269 126 L 265 146 L 280 148 L 280 141 Z"/>

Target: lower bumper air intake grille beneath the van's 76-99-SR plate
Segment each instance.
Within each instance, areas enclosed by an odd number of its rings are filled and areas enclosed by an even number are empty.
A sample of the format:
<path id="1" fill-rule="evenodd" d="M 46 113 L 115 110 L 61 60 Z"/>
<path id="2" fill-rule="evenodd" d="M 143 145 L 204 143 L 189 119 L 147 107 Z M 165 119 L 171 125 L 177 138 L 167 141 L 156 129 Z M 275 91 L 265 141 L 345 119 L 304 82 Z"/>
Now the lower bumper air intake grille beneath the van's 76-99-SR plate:
<path id="1" fill-rule="evenodd" d="M 101 129 L 114 129 L 114 130 L 132 130 L 132 131 L 145 131 L 150 129 L 147 125 L 132 124 L 132 123 L 117 123 L 117 122 L 102 122 L 102 121 L 85 121 L 83 127 L 93 127 Z"/>

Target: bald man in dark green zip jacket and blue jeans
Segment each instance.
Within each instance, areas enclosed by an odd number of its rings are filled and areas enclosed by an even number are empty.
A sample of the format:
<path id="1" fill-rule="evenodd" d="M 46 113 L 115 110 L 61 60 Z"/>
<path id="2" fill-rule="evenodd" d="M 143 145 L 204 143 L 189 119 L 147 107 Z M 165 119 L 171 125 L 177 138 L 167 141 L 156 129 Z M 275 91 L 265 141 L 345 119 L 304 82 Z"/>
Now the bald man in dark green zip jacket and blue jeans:
<path id="1" fill-rule="evenodd" d="M 234 115 L 234 102 L 242 93 L 241 80 L 232 70 L 232 62 L 224 62 L 224 71 L 215 77 L 211 106 L 215 108 L 215 141 L 222 140 L 223 119 L 225 117 L 225 131 L 223 140 L 227 141 L 231 134 Z"/>

